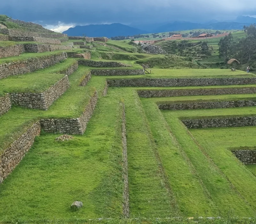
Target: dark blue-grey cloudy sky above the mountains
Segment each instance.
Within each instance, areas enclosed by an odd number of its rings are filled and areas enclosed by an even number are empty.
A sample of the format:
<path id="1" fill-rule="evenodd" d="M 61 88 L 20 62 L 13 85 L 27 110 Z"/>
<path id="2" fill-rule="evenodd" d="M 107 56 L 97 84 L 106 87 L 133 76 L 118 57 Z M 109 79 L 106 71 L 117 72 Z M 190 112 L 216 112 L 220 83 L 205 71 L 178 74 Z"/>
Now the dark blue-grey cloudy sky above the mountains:
<path id="1" fill-rule="evenodd" d="M 0 14 L 63 31 L 75 25 L 207 22 L 256 15 L 255 0 L 1 0 Z"/>

